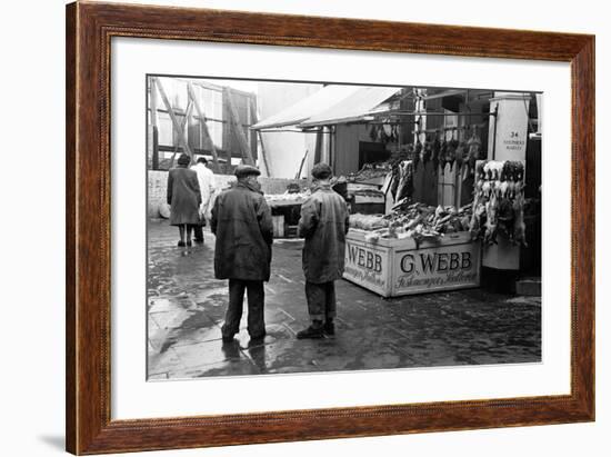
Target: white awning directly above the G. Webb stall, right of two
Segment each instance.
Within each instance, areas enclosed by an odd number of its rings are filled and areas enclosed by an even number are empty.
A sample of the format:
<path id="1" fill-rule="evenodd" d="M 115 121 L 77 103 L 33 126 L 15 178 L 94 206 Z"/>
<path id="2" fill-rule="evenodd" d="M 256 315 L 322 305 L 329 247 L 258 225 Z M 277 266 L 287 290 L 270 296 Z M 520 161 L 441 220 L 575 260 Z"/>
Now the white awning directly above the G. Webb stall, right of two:
<path id="1" fill-rule="evenodd" d="M 399 92 L 398 87 L 360 87 L 354 93 L 324 110 L 319 110 L 299 127 L 328 126 L 358 120 L 375 112 L 375 108 Z"/>

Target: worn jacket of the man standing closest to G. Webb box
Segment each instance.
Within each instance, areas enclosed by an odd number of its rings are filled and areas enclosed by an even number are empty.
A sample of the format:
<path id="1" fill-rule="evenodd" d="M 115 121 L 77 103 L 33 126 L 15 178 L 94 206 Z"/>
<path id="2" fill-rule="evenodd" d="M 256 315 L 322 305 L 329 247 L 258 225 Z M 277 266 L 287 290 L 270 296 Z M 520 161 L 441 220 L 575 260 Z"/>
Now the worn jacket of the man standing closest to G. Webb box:
<path id="1" fill-rule="evenodd" d="M 303 272 L 309 282 L 322 284 L 343 275 L 348 207 L 330 186 L 317 186 L 301 206 L 299 236 L 303 245 Z"/>

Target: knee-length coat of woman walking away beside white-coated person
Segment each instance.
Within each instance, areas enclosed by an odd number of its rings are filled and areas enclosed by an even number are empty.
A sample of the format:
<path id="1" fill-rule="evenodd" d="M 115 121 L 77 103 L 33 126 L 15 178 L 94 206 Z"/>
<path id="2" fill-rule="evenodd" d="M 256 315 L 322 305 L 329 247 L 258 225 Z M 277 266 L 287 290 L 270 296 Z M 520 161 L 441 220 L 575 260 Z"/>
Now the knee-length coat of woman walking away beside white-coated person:
<path id="1" fill-rule="evenodd" d="M 168 205 L 170 205 L 170 223 L 199 223 L 201 205 L 198 173 L 186 167 L 172 168 L 168 173 Z"/>

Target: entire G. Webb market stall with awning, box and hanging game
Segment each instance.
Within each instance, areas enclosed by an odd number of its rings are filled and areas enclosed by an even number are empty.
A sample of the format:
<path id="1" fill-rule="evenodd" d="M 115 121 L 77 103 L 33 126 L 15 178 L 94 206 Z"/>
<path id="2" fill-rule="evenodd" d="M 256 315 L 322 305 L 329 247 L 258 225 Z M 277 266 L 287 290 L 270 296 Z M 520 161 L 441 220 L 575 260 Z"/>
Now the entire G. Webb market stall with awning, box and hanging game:
<path id="1" fill-rule="evenodd" d="M 345 181 L 344 278 L 393 297 L 479 287 L 485 268 L 518 271 L 532 99 L 363 87 L 294 121 L 325 138 L 313 162 L 327 161 Z"/>

